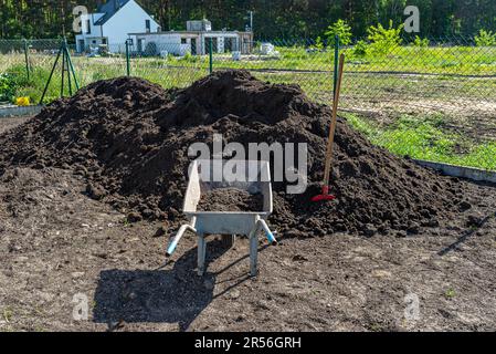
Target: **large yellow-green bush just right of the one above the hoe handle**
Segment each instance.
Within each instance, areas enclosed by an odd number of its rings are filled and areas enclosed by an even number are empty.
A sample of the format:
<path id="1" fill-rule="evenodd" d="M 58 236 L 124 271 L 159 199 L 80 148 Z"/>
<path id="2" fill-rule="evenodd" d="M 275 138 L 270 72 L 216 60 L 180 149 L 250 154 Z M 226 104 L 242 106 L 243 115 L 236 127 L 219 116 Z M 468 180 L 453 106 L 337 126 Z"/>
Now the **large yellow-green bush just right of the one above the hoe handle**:
<path id="1" fill-rule="evenodd" d="M 386 55 L 398 49 L 402 42 L 401 31 L 404 24 L 400 24 L 398 28 L 393 27 L 392 20 L 389 21 L 389 28 L 384 28 L 382 24 L 377 27 L 371 25 L 368 32 L 368 39 L 371 42 L 370 51 L 377 55 Z"/>

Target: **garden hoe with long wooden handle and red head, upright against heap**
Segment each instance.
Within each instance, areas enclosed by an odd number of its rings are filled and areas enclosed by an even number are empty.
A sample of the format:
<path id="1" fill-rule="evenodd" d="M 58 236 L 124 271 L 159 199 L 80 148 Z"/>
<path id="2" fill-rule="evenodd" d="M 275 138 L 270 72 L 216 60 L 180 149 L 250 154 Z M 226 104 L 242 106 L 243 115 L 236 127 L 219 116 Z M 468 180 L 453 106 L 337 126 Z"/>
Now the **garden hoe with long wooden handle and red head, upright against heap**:
<path id="1" fill-rule="evenodd" d="M 341 54 L 339 58 L 339 72 L 338 72 L 338 83 L 336 86 L 336 93 L 333 103 L 333 116 L 330 118 L 330 129 L 329 129 L 329 138 L 327 140 L 327 150 L 326 150 L 326 167 L 324 170 L 324 183 L 321 194 L 312 198 L 312 201 L 324 201 L 324 200 L 334 200 L 335 196 L 329 195 L 329 176 L 333 163 L 333 145 L 334 145 L 334 135 L 336 132 L 337 124 L 337 115 L 338 115 L 338 102 L 339 102 L 339 92 L 341 90 L 341 80 L 342 80 L 342 70 L 345 67 L 345 54 Z"/>

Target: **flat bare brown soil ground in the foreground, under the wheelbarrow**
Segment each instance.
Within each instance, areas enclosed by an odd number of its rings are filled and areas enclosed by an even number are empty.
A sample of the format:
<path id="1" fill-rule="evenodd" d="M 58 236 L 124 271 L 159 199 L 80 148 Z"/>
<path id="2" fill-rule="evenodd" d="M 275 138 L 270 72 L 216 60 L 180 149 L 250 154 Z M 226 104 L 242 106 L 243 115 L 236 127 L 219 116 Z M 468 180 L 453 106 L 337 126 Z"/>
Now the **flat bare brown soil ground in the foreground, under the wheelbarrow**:
<path id="1" fill-rule="evenodd" d="M 261 238 L 252 279 L 246 240 L 211 237 L 199 278 L 192 236 L 165 263 L 159 222 L 129 225 L 85 188 L 55 168 L 2 177 L 0 331 L 496 330 L 496 218 L 477 214 L 495 194 L 476 197 L 474 222 L 414 237 Z M 88 320 L 75 321 L 84 296 Z"/>

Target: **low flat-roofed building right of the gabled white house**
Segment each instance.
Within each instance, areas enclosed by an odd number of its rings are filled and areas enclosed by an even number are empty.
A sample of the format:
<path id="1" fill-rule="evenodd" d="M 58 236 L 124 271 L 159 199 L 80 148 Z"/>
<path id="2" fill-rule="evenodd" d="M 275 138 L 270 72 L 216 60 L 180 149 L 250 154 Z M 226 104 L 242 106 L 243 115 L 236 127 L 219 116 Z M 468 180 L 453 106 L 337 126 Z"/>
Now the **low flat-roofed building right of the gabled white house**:
<path id="1" fill-rule="evenodd" d="M 208 20 L 188 21 L 186 31 L 134 32 L 134 50 L 148 55 L 170 53 L 173 55 L 204 55 L 209 53 L 210 39 L 214 53 L 241 52 L 249 54 L 253 50 L 251 31 L 213 31 Z"/>

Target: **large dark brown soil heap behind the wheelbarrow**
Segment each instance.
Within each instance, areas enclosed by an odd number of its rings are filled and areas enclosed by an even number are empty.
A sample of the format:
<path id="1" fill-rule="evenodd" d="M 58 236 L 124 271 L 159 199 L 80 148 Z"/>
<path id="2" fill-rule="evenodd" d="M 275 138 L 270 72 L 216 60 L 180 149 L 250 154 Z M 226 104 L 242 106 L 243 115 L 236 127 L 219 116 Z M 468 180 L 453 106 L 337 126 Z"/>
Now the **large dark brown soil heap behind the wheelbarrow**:
<path id="1" fill-rule="evenodd" d="M 330 110 L 298 86 L 273 85 L 245 71 L 217 72 L 181 91 L 140 79 L 101 81 L 60 100 L 0 137 L 0 174 L 9 166 L 55 166 L 87 178 L 87 194 L 144 218 L 179 220 L 191 159 L 188 147 L 212 142 L 308 143 L 304 195 L 274 184 L 271 222 L 286 236 L 335 231 L 415 233 L 467 210 L 464 183 L 420 168 L 339 119 L 334 202 L 313 204 L 323 178 Z M 139 217 L 134 217 L 139 219 Z"/>

